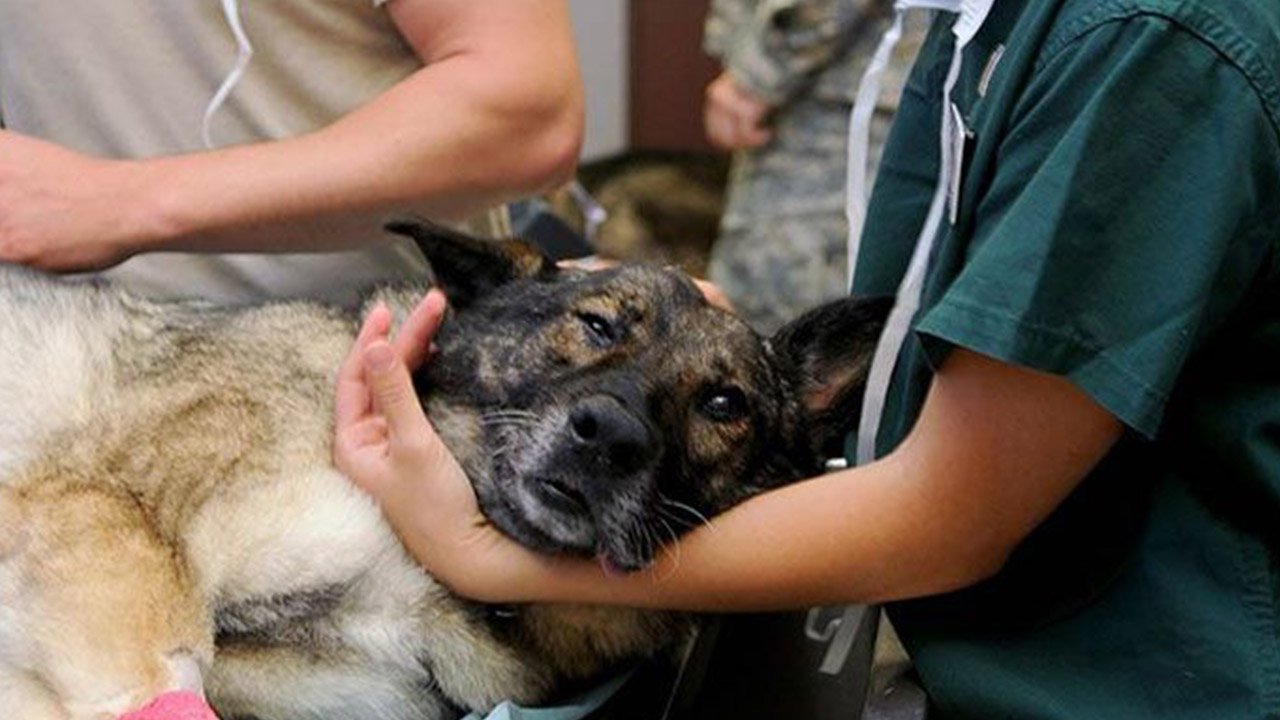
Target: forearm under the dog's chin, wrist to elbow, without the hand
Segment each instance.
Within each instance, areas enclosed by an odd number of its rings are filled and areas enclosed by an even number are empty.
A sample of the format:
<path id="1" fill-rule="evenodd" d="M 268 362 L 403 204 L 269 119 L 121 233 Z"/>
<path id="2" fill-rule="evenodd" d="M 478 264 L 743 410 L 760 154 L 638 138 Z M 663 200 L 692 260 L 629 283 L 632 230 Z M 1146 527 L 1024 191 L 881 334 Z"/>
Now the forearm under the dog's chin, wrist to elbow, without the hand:
<path id="1" fill-rule="evenodd" d="M 620 578 L 594 562 L 548 560 L 524 600 L 773 610 L 945 592 L 1002 560 L 996 538 L 945 527 L 947 519 L 900 462 L 882 461 L 753 498 L 646 571 Z"/>

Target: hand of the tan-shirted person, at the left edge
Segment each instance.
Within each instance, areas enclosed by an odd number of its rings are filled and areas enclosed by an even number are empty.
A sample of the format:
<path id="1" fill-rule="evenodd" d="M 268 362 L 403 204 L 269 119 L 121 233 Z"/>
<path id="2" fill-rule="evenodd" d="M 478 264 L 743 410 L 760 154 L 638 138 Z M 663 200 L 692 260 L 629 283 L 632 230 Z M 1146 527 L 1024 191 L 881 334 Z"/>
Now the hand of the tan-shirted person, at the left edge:
<path id="1" fill-rule="evenodd" d="M 132 169 L 0 129 L 0 261 L 69 272 L 127 259 L 147 237 Z"/>

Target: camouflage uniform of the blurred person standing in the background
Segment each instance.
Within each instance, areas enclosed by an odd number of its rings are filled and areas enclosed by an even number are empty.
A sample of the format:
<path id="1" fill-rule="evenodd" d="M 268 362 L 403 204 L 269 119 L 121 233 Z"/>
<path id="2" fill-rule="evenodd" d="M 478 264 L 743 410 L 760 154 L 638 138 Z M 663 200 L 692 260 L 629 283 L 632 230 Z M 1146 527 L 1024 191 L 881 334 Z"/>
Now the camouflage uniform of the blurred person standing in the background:
<path id="1" fill-rule="evenodd" d="M 881 0 L 713 0 L 705 50 L 771 113 L 773 140 L 739 151 L 709 275 L 763 332 L 847 292 L 845 176 L 858 82 L 886 29 Z M 888 133 L 924 23 L 904 32 L 872 123 Z"/>

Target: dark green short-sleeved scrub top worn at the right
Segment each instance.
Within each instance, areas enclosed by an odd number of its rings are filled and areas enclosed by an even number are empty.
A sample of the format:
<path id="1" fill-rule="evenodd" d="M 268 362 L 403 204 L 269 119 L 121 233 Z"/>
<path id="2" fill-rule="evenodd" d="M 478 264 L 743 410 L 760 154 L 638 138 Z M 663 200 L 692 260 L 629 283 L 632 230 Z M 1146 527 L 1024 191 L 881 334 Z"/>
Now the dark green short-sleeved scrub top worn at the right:
<path id="1" fill-rule="evenodd" d="M 855 295 L 895 292 L 924 223 L 952 47 L 940 20 Z M 956 346 L 1128 429 L 996 577 L 890 607 L 938 717 L 1280 717 L 1277 73 L 1274 0 L 1000 0 L 965 49 L 957 217 L 878 451 Z"/>

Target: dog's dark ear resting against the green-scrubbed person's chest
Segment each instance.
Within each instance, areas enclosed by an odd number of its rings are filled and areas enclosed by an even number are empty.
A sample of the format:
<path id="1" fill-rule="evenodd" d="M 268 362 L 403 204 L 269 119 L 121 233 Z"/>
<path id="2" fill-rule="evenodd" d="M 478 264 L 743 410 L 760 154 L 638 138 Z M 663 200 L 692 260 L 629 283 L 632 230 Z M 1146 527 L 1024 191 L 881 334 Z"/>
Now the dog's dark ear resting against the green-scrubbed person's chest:
<path id="1" fill-rule="evenodd" d="M 891 299 L 837 300 L 809 310 L 769 340 L 800 392 L 814 450 L 832 452 L 856 427 L 867 373 L 892 306 Z"/>

